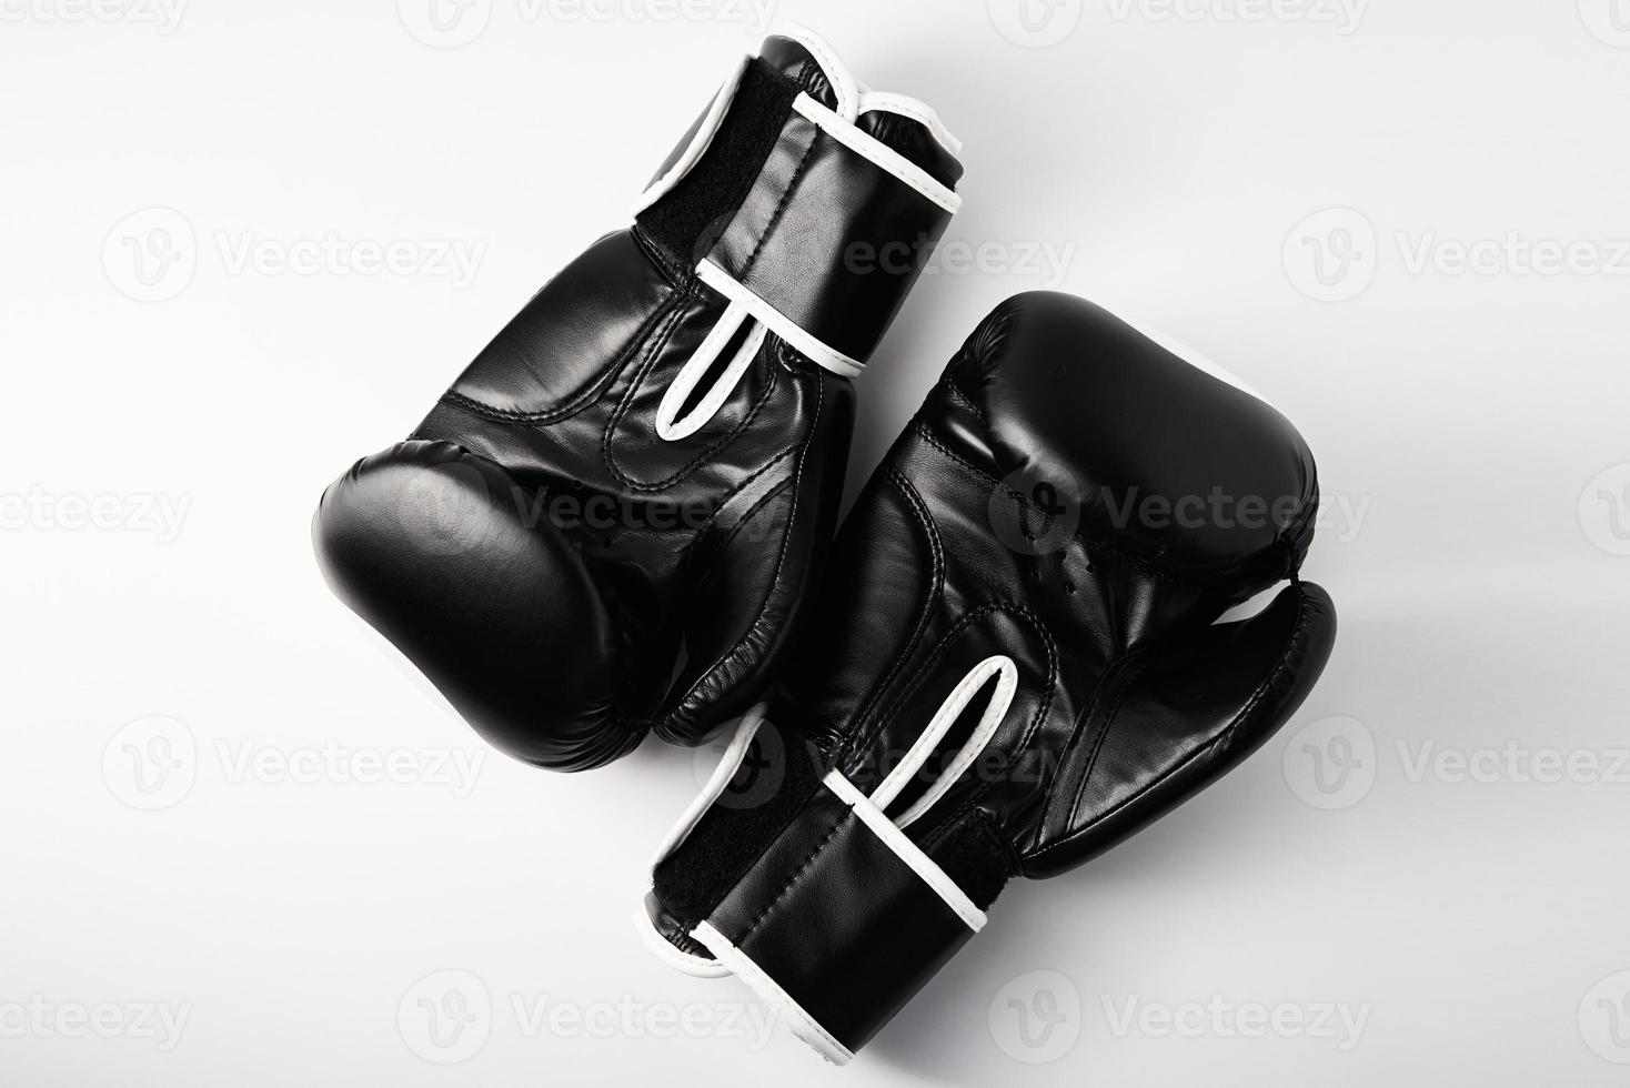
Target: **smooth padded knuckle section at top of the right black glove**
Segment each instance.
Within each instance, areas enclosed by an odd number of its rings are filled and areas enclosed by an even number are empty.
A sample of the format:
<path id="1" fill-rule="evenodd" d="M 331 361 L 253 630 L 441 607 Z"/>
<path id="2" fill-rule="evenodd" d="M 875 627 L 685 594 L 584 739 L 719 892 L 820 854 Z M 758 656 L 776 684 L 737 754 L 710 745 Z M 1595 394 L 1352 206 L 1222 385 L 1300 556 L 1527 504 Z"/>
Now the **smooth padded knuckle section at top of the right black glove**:
<path id="1" fill-rule="evenodd" d="M 1283 577 L 1306 552 L 1317 477 L 1296 428 L 1086 300 L 1007 300 L 950 378 L 988 420 L 996 474 L 1020 494 L 1043 487 L 1084 536 L 1231 591 Z"/>

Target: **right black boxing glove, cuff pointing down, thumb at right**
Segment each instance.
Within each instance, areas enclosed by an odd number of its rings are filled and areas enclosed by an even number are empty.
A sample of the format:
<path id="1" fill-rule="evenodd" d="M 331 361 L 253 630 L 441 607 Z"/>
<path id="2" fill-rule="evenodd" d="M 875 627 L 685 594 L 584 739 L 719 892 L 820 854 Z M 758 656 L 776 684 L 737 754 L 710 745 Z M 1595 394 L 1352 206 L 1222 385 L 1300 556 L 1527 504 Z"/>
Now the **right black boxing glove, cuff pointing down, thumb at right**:
<path id="1" fill-rule="evenodd" d="M 1009 300 L 861 494 L 782 691 L 663 844 L 649 943 L 846 1060 L 1007 880 L 1107 850 L 1294 713 L 1335 638 L 1297 577 L 1317 505 L 1268 404 L 1079 298 Z"/>

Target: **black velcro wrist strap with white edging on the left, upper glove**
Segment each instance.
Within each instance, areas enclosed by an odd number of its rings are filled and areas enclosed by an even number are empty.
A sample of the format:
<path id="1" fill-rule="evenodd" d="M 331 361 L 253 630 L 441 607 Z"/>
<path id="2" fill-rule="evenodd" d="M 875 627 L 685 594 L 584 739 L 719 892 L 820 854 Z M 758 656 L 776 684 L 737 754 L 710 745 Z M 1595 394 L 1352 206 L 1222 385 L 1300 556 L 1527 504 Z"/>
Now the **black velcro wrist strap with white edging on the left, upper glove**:
<path id="1" fill-rule="evenodd" d="M 852 376 L 958 204 L 854 117 L 747 59 L 663 163 L 637 222 L 737 311 Z"/>

